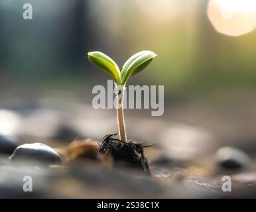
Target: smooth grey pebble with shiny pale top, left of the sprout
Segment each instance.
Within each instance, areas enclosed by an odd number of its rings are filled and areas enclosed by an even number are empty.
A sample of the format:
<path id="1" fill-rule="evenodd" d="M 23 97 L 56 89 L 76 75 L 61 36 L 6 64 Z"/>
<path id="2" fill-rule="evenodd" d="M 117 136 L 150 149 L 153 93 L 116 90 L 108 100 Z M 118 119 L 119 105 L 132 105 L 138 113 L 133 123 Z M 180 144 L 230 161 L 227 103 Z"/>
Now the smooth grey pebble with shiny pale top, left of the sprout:
<path id="1" fill-rule="evenodd" d="M 17 161 L 19 159 L 40 160 L 47 164 L 58 164 L 62 162 L 61 156 L 53 148 L 41 143 L 18 146 L 11 155 L 11 160 Z"/>

